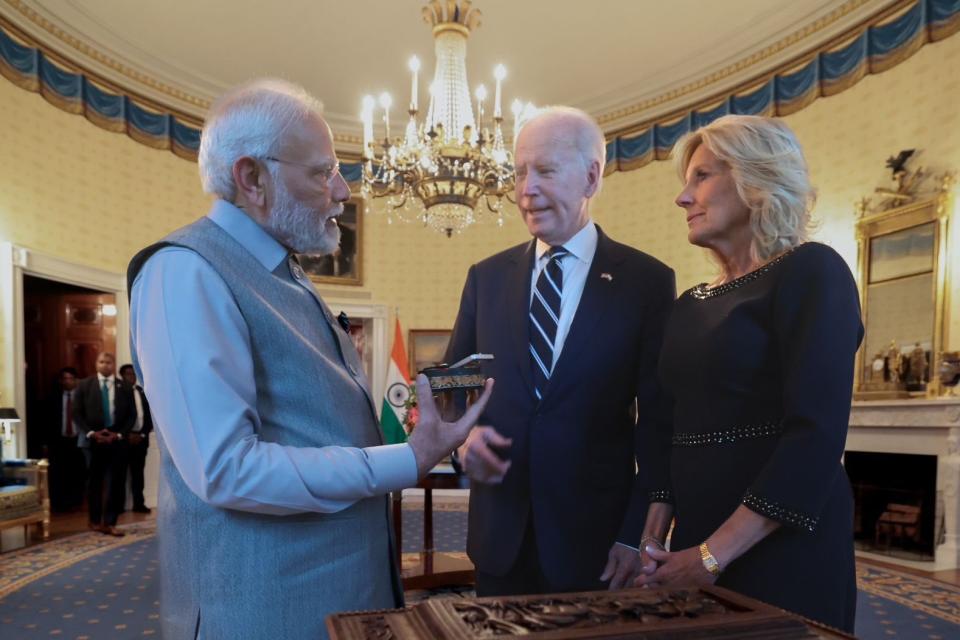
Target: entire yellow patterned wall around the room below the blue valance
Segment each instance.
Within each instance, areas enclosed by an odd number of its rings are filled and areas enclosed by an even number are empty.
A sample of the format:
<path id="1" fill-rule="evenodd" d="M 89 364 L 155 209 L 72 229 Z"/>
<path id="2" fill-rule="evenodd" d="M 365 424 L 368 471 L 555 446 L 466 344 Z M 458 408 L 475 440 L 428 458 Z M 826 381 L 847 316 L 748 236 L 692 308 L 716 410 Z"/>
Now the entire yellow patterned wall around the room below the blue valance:
<path id="1" fill-rule="evenodd" d="M 957 68 L 960 37 L 948 38 L 786 118 L 820 191 L 816 239 L 849 264 L 856 263 L 853 202 L 886 179 L 888 155 L 917 147 L 926 166 L 960 168 Z M 136 250 L 208 206 L 195 164 L 98 129 L 2 79 L 0 141 L 0 241 L 120 273 Z M 682 290 L 710 279 L 713 270 L 686 243 L 681 210 L 673 205 L 677 190 L 672 165 L 655 162 L 608 177 L 594 212 L 612 237 L 673 266 Z M 360 291 L 365 301 L 398 309 L 405 329 L 450 327 L 469 265 L 526 237 L 515 217 L 502 229 L 475 227 L 452 239 L 372 216 L 365 225 Z M 960 282 L 958 228 L 951 234 L 954 282 Z M 953 306 L 947 344 L 956 349 L 960 310 Z M 11 341 L 0 340 L 4 362 Z M 0 371 L 0 391 L 12 391 L 10 371 Z"/>

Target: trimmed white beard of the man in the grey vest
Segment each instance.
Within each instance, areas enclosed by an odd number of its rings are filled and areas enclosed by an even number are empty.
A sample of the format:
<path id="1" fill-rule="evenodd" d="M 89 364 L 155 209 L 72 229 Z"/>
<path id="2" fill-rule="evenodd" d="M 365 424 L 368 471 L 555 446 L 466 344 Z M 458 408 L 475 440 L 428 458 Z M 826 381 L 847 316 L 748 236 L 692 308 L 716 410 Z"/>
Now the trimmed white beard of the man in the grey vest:
<path id="1" fill-rule="evenodd" d="M 327 220 L 343 212 L 343 204 L 336 203 L 324 215 L 299 202 L 290 195 L 279 175 L 274 175 L 276 202 L 264 225 L 280 244 L 307 255 L 327 255 L 340 246 L 340 227 L 336 222 L 327 228 Z"/>

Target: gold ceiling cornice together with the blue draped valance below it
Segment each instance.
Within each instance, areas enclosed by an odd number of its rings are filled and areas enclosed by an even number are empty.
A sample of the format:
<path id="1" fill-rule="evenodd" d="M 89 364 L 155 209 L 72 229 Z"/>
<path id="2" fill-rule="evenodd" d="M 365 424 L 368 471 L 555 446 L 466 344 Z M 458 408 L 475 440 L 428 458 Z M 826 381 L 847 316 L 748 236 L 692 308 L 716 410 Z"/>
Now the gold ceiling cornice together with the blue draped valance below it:
<path id="1" fill-rule="evenodd" d="M 29 32 L 2 10 L 14 5 L 23 10 L 14 17 L 33 17 L 28 21 L 32 25 Z M 81 31 L 82 22 L 76 27 Z M 71 36 L 22 0 L 0 0 L 0 31 L 0 74 L 18 86 L 39 92 L 55 106 L 83 114 L 102 128 L 126 132 L 154 148 L 195 158 L 202 125 L 196 114 L 201 111 L 186 107 L 199 105 L 199 100 L 180 100 L 185 108 L 178 109 L 171 106 L 176 100 L 164 99 L 164 95 L 189 96 L 182 88 L 157 80 L 134 65 L 121 64 L 121 58 Z M 38 32 L 44 37 L 35 35 Z M 865 75 L 899 64 L 927 42 L 958 32 L 960 6 L 955 0 L 850 0 L 783 38 L 771 34 L 774 44 L 738 62 L 721 60 L 715 70 L 701 68 L 706 74 L 701 80 L 684 84 L 680 79 L 677 89 L 633 107 L 593 110 L 600 113 L 614 145 L 615 162 L 608 163 L 608 170 L 631 170 L 663 159 L 679 135 L 725 113 L 794 113 L 818 97 L 853 86 Z M 60 46 L 45 44 L 51 38 Z M 84 51 L 93 52 L 95 58 Z M 118 80 L 122 74 L 104 68 L 124 70 L 128 81 Z M 151 86 L 144 87 L 141 78 Z M 335 135 L 337 150 L 345 166 L 352 166 L 360 146 L 359 136 L 353 133 L 353 118 L 328 111 L 327 119 L 334 131 L 341 132 Z"/>

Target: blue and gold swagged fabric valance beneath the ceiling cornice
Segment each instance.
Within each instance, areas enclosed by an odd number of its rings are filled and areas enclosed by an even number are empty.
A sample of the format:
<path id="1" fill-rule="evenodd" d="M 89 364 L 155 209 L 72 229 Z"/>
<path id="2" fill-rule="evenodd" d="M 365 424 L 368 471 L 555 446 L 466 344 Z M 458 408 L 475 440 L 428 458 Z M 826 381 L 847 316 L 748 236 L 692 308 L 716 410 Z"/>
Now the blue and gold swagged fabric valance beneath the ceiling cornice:
<path id="1" fill-rule="evenodd" d="M 607 174 L 668 158 L 683 134 L 723 115 L 784 116 L 799 111 L 820 97 L 850 88 L 868 74 L 890 69 L 925 44 L 958 31 L 960 0 L 897 2 L 818 49 L 732 90 L 615 132 L 607 143 Z M 60 109 L 82 114 L 101 128 L 196 160 L 202 122 L 77 66 L 2 16 L 0 75 L 40 93 Z M 350 182 L 359 181 L 359 158 L 356 154 L 343 155 L 344 177 Z"/>

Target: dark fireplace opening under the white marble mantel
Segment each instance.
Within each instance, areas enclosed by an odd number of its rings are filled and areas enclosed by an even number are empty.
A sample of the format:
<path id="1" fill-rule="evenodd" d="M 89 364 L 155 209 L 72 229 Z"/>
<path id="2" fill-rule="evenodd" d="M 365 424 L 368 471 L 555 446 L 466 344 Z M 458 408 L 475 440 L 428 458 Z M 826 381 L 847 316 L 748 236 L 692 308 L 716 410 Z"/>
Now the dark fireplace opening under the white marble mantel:
<path id="1" fill-rule="evenodd" d="M 854 546 L 907 560 L 933 560 L 937 456 L 847 451 Z"/>

